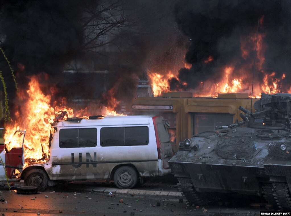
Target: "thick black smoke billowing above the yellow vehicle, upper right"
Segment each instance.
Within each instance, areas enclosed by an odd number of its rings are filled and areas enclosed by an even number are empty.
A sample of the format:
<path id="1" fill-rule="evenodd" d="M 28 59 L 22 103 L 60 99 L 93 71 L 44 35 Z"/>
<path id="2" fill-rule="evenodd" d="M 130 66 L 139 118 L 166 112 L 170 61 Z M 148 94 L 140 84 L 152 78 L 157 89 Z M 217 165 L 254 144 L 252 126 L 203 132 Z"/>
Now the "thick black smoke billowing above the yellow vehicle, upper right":
<path id="1" fill-rule="evenodd" d="M 255 35 L 259 17 L 263 17 L 263 24 L 259 26 L 258 32 L 265 35 L 263 40 L 267 49 L 265 63 L 262 68 L 256 68 L 256 73 L 259 70 L 270 73 L 276 71 L 277 77 L 285 73 L 285 89 L 290 88 L 290 1 L 180 1 L 175 4 L 174 15 L 179 29 L 191 39 L 185 59 L 192 67 L 180 69 L 180 81 L 170 81 L 172 89 L 183 87 L 183 82 L 188 83 L 185 90 L 195 89 L 200 82 L 210 78 L 217 82 L 221 78 L 223 67 L 230 63 L 235 66 L 234 71 L 239 75 L 242 65 L 254 61 L 254 51 L 251 51 L 253 44 L 249 44 L 249 57 L 241 57 L 241 38 Z M 213 57 L 213 61 L 204 63 L 209 56 Z M 262 80 L 259 76 L 256 77 L 257 82 Z"/>

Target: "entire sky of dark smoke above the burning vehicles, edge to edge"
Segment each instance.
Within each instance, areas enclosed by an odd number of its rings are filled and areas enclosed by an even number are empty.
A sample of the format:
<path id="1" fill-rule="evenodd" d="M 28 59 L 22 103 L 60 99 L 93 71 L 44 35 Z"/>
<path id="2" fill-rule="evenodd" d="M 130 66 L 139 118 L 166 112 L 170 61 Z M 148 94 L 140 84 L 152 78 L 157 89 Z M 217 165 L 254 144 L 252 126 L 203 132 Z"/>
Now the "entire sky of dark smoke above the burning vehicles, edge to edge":
<path id="1" fill-rule="evenodd" d="M 128 26 L 115 31 L 114 43 L 101 47 L 96 54 L 84 50 L 83 18 L 85 9 L 98 8 L 102 2 L 0 3 L 0 46 L 13 65 L 20 86 L 27 85 L 27 76 L 45 73 L 42 82 L 47 87 L 57 86 L 58 94 L 68 99 L 106 99 L 102 86 L 106 86 L 105 90 L 119 86 L 114 89 L 117 99 L 123 100 L 135 96 L 136 80 L 148 69 L 165 72 L 175 68 L 179 75 L 170 81 L 172 90 L 187 82 L 183 88 L 191 91 L 208 79 L 219 81 L 225 65 L 235 68 L 234 75 L 243 65 L 250 65 L 255 56 L 254 44 L 246 43 L 249 55 L 242 58 L 242 39 L 255 36 L 258 29 L 265 45 L 265 61 L 255 69 L 276 71 L 277 77 L 285 73 L 284 86 L 290 88 L 288 0 L 127 0 L 120 8 Z M 262 22 L 258 27 L 259 18 Z M 213 61 L 204 63 L 209 56 Z M 177 68 L 177 62 L 184 58 L 192 65 L 190 69 Z M 64 76 L 64 66 L 74 59 L 95 62 L 93 70 L 112 73 L 102 79 L 96 74 Z M 2 57 L 0 60 L 8 90 L 13 93 L 10 71 Z M 257 76 L 260 80 L 260 73 Z"/>

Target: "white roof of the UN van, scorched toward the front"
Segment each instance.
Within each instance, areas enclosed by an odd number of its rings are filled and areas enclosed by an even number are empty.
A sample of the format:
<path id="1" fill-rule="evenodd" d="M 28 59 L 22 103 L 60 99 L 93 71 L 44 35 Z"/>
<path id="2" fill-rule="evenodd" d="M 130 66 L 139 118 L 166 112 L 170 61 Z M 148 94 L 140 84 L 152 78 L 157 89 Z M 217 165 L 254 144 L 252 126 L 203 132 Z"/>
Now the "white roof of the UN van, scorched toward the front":
<path id="1" fill-rule="evenodd" d="M 100 119 L 79 118 L 57 122 L 54 127 L 80 127 L 102 125 L 144 125 L 152 123 L 154 116 L 104 116 Z"/>

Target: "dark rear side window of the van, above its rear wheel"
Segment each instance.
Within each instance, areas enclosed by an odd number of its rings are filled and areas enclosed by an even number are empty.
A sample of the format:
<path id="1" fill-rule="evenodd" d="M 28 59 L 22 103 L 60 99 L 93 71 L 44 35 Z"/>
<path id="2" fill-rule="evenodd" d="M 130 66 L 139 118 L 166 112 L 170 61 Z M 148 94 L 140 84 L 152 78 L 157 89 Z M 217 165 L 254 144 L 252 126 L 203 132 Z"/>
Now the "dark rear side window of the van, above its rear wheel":
<path id="1" fill-rule="evenodd" d="M 143 146 L 148 145 L 148 127 L 101 128 L 101 146 Z"/>

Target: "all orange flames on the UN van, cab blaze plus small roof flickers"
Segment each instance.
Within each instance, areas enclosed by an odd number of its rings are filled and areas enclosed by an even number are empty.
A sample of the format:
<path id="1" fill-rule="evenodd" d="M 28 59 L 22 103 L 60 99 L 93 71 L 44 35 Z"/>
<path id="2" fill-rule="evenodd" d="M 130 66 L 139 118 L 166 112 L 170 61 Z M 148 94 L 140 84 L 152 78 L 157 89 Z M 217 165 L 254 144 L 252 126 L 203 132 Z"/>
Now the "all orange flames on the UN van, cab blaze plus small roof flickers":
<path id="1" fill-rule="evenodd" d="M 41 91 L 41 86 L 36 76 L 31 77 L 27 91 L 19 91 L 19 99 L 22 102 L 19 111 L 15 113 L 15 120 L 6 125 L 4 134 L 5 145 L 8 151 L 12 148 L 22 147 L 22 133 L 15 131 L 26 131 L 24 139 L 25 166 L 30 163 L 44 163 L 49 160 L 49 139 L 54 134 L 52 123 L 56 116 L 62 115 L 62 119 L 73 116 L 73 109 L 66 107 L 66 100 L 61 100 L 63 105 L 51 104 L 51 96 Z M 85 111 L 85 110 L 82 110 Z M 118 115 L 107 107 L 102 109 L 106 115 Z M 22 113 L 22 114 L 20 114 Z M 82 116 L 81 118 L 87 118 Z"/>

